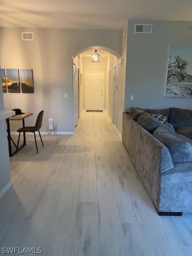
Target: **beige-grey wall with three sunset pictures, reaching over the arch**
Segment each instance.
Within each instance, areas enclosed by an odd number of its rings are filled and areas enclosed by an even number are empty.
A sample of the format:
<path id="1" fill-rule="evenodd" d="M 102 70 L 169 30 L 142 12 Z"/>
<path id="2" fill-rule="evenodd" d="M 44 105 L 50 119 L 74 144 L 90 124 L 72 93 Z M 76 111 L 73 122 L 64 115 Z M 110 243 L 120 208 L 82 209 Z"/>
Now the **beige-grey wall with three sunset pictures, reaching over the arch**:
<path id="1" fill-rule="evenodd" d="M 34 41 L 22 41 L 22 31 L 33 31 Z M 83 48 L 97 45 L 121 55 L 122 30 L 0 28 L 2 68 L 27 68 L 34 72 L 34 94 L 4 93 L 5 109 L 33 112 L 26 125 L 34 125 L 44 109 L 41 131 L 47 131 L 52 117 L 60 132 L 73 132 L 72 56 Z M 64 94 L 68 98 L 64 98 Z M 12 130 L 21 126 L 12 122 Z"/>

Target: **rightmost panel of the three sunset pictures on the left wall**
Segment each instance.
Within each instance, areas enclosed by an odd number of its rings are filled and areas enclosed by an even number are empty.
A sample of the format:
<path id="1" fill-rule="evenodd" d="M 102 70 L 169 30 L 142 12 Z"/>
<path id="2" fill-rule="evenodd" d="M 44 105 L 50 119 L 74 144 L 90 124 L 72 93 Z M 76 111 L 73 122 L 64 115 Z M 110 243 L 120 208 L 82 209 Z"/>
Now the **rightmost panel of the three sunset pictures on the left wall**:
<path id="1" fill-rule="evenodd" d="M 20 69 L 20 81 L 23 93 L 34 93 L 32 69 Z"/>

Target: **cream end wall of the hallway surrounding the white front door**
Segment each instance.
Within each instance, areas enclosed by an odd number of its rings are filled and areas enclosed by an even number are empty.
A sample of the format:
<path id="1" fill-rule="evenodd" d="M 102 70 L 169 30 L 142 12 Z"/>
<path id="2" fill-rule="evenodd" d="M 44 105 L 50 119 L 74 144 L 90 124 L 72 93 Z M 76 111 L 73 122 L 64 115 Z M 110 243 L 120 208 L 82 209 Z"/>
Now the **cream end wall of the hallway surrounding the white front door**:
<path id="1" fill-rule="evenodd" d="M 85 105 L 85 83 L 86 83 L 86 72 L 104 72 L 104 109 L 107 108 L 106 99 L 107 99 L 107 65 L 108 57 L 101 56 L 101 62 L 93 63 L 91 62 L 91 56 L 83 57 L 82 56 L 82 91 L 83 91 L 83 109 L 86 109 Z"/>

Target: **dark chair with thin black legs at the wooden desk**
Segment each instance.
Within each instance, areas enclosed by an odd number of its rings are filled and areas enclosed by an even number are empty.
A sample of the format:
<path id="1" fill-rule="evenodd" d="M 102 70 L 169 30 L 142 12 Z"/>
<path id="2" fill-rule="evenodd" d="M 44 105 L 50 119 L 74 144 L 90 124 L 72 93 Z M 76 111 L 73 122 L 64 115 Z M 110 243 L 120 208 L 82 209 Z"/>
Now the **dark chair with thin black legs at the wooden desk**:
<path id="1" fill-rule="evenodd" d="M 24 132 L 24 133 L 25 132 L 33 132 L 34 133 L 34 138 L 35 138 L 36 150 L 37 150 L 37 154 L 38 154 L 35 132 L 37 132 L 37 131 L 39 132 L 41 143 L 43 145 L 43 141 L 42 141 L 41 134 L 40 134 L 40 131 L 39 131 L 39 129 L 41 129 L 41 125 L 42 125 L 43 113 L 44 113 L 44 110 L 41 110 L 41 112 L 39 112 L 39 114 L 37 116 L 35 126 L 26 126 L 26 127 L 22 127 L 22 128 L 17 130 L 17 132 L 19 132 L 19 138 L 18 138 L 18 142 L 17 142 L 17 150 L 18 150 L 18 146 L 19 146 L 19 139 L 20 139 L 21 132 Z M 43 145 L 43 147 L 44 147 L 44 145 Z"/>

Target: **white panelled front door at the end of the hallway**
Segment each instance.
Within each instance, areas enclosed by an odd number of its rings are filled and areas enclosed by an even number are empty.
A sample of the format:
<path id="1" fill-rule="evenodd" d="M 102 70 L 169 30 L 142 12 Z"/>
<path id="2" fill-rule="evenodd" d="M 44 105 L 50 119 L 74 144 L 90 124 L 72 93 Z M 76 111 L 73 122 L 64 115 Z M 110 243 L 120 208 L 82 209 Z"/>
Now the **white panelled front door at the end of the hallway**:
<path id="1" fill-rule="evenodd" d="M 103 72 L 86 72 L 86 110 L 103 110 Z"/>

